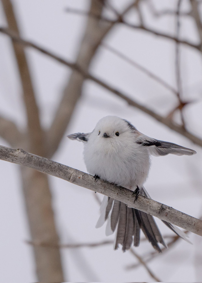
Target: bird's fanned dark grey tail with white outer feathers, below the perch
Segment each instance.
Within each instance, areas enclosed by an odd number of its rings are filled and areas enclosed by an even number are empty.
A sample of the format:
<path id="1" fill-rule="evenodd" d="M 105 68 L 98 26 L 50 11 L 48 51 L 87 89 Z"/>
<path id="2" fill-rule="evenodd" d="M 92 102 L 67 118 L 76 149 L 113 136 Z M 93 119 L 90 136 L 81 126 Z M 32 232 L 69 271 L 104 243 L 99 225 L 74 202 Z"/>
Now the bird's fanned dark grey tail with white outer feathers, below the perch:
<path id="1" fill-rule="evenodd" d="M 141 188 L 140 194 L 150 198 L 144 187 Z M 150 214 L 135 208 L 129 208 L 123 202 L 119 202 L 107 196 L 104 196 L 100 211 L 101 215 L 96 228 L 101 227 L 108 219 L 106 235 L 111 235 L 116 230 L 114 249 L 118 249 L 119 244 L 122 245 L 123 251 L 128 250 L 131 245 L 135 247 L 139 246 L 140 230 L 143 231 L 145 237 L 158 252 L 161 252 L 158 243 L 167 247 L 153 216 Z M 166 221 L 163 222 L 177 235 L 189 242 L 187 235 L 178 227 Z"/>

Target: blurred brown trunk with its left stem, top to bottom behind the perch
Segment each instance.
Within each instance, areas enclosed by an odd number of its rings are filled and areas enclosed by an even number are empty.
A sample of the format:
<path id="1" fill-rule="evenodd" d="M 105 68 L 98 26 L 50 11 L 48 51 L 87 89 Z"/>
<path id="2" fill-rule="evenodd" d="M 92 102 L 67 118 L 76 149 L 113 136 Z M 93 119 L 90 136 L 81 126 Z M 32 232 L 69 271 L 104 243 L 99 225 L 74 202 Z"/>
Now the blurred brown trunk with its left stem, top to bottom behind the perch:
<path id="1" fill-rule="evenodd" d="M 17 21 L 10 0 L 1 0 L 8 26 L 18 32 Z M 21 135 L 16 147 L 23 147 L 44 156 L 44 132 L 40 125 L 38 106 L 27 65 L 26 54 L 20 44 L 13 42 L 22 95 L 27 112 L 27 134 Z M 23 192 L 33 242 L 58 243 L 48 177 L 35 170 L 21 167 Z M 64 281 L 59 248 L 34 246 L 36 272 L 39 281 Z"/>

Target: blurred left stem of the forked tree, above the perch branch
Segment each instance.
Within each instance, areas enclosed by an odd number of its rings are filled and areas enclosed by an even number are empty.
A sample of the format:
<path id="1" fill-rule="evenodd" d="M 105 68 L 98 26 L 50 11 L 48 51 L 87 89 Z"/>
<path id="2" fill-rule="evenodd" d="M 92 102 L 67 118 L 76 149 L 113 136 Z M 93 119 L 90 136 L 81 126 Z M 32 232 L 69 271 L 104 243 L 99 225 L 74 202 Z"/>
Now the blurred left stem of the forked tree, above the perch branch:
<path id="1" fill-rule="evenodd" d="M 13 5 L 10 0 L 1 0 L 5 11 L 8 27 L 19 35 L 17 21 L 13 11 Z M 44 155 L 43 152 L 43 131 L 40 126 L 39 111 L 35 99 L 30 71 L 28 68 L 26 55 L 21 44 L 13 41 L 13 49 L 17 60 L 20 80 L 23 89 L 23 99 L 26 106 L 29 150 L 33 153 Z"/>

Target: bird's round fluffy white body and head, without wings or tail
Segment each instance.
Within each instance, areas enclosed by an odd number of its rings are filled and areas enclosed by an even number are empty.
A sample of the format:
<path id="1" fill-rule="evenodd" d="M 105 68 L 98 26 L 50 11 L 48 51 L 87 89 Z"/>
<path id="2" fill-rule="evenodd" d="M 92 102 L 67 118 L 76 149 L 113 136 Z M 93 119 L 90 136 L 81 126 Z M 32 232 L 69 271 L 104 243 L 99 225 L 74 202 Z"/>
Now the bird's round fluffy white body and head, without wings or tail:
<path id="1" fill-rule="evenodd" d="M 117 118 L 107 116 L 98 122 L 84 144 L 84 162 L 89 174 L 134 191 L 147 179 L 149 153 L 146 147 L 135 143 L 138 131 Z M 103 138 L 104 133 L 109 138 Z"/>

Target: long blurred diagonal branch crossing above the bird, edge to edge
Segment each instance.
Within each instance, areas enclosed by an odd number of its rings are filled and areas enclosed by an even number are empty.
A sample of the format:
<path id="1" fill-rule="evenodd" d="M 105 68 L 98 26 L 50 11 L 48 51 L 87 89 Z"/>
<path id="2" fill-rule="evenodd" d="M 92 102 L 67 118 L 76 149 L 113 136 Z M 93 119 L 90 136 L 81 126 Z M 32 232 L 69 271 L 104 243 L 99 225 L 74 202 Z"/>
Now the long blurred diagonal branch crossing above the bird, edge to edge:
<path id="1" fill-rule="evenodd" d="M 181 134 L 182 136 L 185 136 L 186 138 L 188 138 L 189 140 L 191 140 L 193 143 L 202 146 L 202 140 L 201 138 L 191 134 L 190 132 L 188 132 L 187 130 L 185 130 L 181 125 L 172 122 L 171 119 L 163 117 L 159 114 L 157 114 L 156 112 L 154 112 L 153 110 L 145 107 L 144 105 L 140 104 L 139 102 L 129 98 L 127 95 L 125 95 L 124 93 L 118 91 L 117 89 L 115 89 L 114 87 L 111 87 L 110 85 L 108 85 L 107 83 L 105 83 L 104 81 L 101 81 L 99 79 L 97 79 L 96 77 L 90 75 L 89 73 L 86 73 L 85 71 L 83 71 L 83 69 L 81 69 L 81 67 L 79 67 L 77 64 L 74 63 L 70 63 L 69 61 L 53 54 L 52 52 L 49 52 L 47 50 L 45 50 L 44 48 L 41 48 L 39 46 L 37 46 L 36 44 L 33 44 L 31 42 L 28 42 L 26 40 L 23 40 L 21 38 L 19 38 L 18 36 L 14 36 L 13 33 L 9 30 L 7 30 L 6 28 L 1 28 L 0 27 L 0 32 L 3 32 L 9 36 L 11 36 L 14 40 L 17 40 L 18 42 L 20 42 L 21 44 L 23 44 L 24 46 L 30 46 L 35 48 L 36 50 L 39 50 L 40 52 L 50 56 L 51 58 L 54 58 L 55 60 L 59 61 L 60 63 L 75 69 L 77 72 L 79 72 L 80 74 L 82 74 L 82 76 L 85 79 L 90 79 L 91 81 L 94 81 L 95 83 L 97 83 L 98 85 L 101 85 L 102 87 L 104 87 L 105 89 L 107 89 L 108 91 L 114 93 L 115 95 L 117 95 L 118 97 L 121 97 L 123 100 L 125 100 L 130 106 L 134 106 L 138 109 L 140 109 L 141 111 L 145 112 L 146 114 L 152 116 L 154 119 L 156 119 L 157 121 L 161 122 L 162 124 L 166 125 L 168 128 L 174 130 L 175 132 L 178 132 L 179 134 Z"/>

